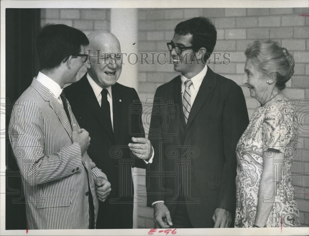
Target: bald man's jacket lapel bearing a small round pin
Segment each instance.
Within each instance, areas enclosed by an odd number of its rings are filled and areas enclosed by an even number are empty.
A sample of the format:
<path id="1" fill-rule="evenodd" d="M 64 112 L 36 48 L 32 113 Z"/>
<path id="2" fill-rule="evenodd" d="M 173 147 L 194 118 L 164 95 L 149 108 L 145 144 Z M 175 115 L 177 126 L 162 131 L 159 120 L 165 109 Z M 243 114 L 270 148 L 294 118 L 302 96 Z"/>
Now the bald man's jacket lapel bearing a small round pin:
<path id="1" fill-rule="evenodd" d="M 118 84 L 114 84 L 112 86 L 112 100 L 113 100 L 113 128 L 114 128 L 114 137 L 115 141 L 117 140 L 120 123 L 121 123 L 121 117 L 123 113 L 123 102 L 121 99 L 121 93 L 118 91 Z"/>

